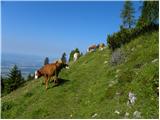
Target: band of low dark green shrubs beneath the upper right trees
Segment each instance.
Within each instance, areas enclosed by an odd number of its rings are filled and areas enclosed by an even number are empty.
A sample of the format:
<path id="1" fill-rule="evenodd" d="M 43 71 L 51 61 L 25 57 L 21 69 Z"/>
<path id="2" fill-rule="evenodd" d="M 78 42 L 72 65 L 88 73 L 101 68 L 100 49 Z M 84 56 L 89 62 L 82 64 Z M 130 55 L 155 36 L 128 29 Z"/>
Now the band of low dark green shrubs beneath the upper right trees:
<path id="1" fill-rule="evenodd" d="M 135 39 L 137 36 L 144 34 L 149 31 L 158 30 L 159 26 L 156 24 L 150 24 L 147 26 L 143 26 L 141 28 L 132 28 L 126 29 L 121 26 L 121 29 L 117 33 L 113 33 L 113 35 L 108 35 L 107 43 L 109 48 L 115 50 L 116 48 L 121 47 L 122 45 L 131 41 L 131 39 Z"/>

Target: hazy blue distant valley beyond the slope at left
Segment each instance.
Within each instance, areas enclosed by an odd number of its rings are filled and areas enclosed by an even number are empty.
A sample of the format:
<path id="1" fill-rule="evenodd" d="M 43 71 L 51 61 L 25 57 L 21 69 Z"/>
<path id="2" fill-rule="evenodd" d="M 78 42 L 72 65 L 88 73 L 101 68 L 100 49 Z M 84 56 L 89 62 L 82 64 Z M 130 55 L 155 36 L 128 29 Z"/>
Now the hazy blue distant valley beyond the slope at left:
<path id="1" fill-rule="evenodd" d="M 29 73 L 34 74 L 34 71 L 43 65 L 44 59 L 45 57 L 34 55 L 2 53 L 1 75 L 3 77 L 7 76 L 9 70 L 14 65 L 17 65 L 21 70 L 22 76 L 26 78 Z M 53 59 L 51 61 L 53 61 Z"/>

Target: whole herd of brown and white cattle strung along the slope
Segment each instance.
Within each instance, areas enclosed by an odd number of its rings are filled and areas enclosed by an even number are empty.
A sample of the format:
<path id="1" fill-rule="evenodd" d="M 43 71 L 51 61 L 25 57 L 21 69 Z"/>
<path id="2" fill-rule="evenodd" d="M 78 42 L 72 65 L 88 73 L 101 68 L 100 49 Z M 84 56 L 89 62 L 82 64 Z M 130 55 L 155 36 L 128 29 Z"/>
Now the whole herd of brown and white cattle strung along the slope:
<path id="1" fill-rule="evenodd" d="M 103 50 L 105 48 L 104 43 L 100 43 L 98 45 L 91 45 L 88 47 L 87 52 L 93 52 L 96 51 L 96 49 Z M 75 52 L 73 55 L 73 61 L 77 61 L 77 59 L 80 57 L 80 53 Z M 40 78 L 41 76 L 44 76 L 44 83 L 46 85 L 46 89 L 48 89 L 48 81 L 54 77 L 54 83 L 58 84 L 58 74 L 63 69 L 69 69 L 69 66 L 67 63 L 63 62 L 62 60 L 57 60 L 54 63 L 50 63 L 47 65 L 44 65 L 42 68 L 35 71 L 35 79 Z"/>

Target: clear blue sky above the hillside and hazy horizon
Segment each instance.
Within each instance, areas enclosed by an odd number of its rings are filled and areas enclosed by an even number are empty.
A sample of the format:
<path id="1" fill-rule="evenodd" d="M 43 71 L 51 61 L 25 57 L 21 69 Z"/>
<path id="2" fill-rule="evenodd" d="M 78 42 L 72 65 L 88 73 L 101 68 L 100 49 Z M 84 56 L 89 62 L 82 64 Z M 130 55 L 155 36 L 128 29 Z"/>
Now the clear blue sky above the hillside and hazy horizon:
<path id="1" fill-rule="evenodd" d="M 2 52 L 61 57 L 119 30 L 124 1 L 2 2 Z M 138 18 L 141 2 L 133 2 Z"/>

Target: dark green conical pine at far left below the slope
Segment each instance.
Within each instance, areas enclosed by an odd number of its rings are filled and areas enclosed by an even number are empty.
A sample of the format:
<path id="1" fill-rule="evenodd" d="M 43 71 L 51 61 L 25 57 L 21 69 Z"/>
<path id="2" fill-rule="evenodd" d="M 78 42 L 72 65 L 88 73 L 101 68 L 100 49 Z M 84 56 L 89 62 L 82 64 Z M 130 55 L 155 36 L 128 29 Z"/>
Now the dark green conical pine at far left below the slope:
<path id="1" fill-rule="evenodd" d="M 21 71 L 14 65 L 8 74 L 7 91 L 10 92 L 17 89 L 23 82 L 24 79 L 22 78 Z"/>

